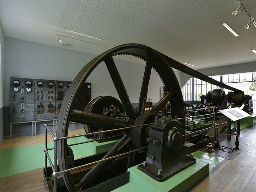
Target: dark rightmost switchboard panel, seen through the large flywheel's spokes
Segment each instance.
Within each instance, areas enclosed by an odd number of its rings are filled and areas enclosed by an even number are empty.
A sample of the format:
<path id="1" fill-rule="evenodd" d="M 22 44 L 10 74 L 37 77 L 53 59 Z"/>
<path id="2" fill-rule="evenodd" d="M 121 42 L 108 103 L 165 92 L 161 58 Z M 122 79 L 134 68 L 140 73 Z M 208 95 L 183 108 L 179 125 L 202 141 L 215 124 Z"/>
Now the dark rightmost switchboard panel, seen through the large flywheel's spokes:
<path id="1" fill-rule="evenodd" d="M 77 93 L 76 101 L 73 108 L 84 111 L 87 104 L 91 101 L 92 84 L 84 82 L 84 85 L 81 85 L 81 87 L 81 90 Z"/>

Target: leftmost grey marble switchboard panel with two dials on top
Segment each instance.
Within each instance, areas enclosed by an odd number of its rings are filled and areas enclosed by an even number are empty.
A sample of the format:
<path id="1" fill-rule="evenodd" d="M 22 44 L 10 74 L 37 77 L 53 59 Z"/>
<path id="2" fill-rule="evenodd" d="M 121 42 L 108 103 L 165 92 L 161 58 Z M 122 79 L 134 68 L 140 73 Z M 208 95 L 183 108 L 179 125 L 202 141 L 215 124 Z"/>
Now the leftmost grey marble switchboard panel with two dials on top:
<path id="1" fill-rule="evenodd" d="M 34 79 L 10 77 L 10 122 L 34 120 Z"/>

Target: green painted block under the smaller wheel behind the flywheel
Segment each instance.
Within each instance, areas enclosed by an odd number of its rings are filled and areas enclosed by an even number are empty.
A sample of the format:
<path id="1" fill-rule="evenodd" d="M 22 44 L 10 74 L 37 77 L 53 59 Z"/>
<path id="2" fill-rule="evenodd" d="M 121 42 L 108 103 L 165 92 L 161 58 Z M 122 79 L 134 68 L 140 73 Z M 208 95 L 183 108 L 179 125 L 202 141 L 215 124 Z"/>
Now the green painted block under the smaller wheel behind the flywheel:
<path id="1" fill-rule="evenodd" d="M 87 139 L 86 137 L 84 137 L 84 140 L 91 141 L 92 139 Z M 86 147 L 90 149 L 94 154 L 99 154 L 99 153 L 104 153 L 109 151 L 111 148 L 114 147 L 114 145 L 116 145 L 118 141 L 119 139 L 101 142 L 101 143 L 94 141 L 94 142 L 87 143 Z"/>

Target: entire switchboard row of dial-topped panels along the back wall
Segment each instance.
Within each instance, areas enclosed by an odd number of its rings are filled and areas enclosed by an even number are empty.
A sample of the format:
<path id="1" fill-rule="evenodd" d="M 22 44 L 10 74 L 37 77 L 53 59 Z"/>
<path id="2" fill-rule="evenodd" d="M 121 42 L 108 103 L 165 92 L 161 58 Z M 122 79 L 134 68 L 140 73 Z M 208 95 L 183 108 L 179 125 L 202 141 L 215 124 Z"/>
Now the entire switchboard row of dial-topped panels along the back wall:
<path id="1" fill-rule="evenodd" d="M 10 123 L 58 119 L 71 81 L 10 77 Z M 84 83 L 74 109 L 91 101 L 91 83 Z"/>

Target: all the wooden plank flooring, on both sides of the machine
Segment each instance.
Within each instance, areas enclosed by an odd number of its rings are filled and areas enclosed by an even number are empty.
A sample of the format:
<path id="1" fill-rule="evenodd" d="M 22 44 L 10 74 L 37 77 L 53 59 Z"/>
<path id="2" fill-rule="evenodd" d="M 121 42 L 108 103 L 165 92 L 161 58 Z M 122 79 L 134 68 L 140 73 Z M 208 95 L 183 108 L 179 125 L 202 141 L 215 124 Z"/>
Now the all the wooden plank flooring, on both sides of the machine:
<path id="1" fill-rule="evenodd" d="M 83 129 L 70 132 L 78 134 L 84 132 Z M 48 137 L 50 138 L 50 137 Z M 192 192 L 240 192 L 256 191 L 256 126 L 246 128 L 240 133 L 240 147 L 242 152 L 233 160 L 225 160 L 222 165 L 213 168 L 210 175 L 201 181 Z M 31 136 L 30 136 L 31 139 Z M 233 142 L 235 142 L 234 138 Z M 4 140 L 1 150 L 27 146 L 31 140 L 26 142 L 26 137 Z M 35 144 L 44 143 L 44 134 L 35 136 Z M 5 146 L 6 145 L 6 146 Z M 32 143 L 33 145 L 33 143 Z M 0 191 L 45 191 L 42 169 L 12 175 L 0 179 Z"/>

